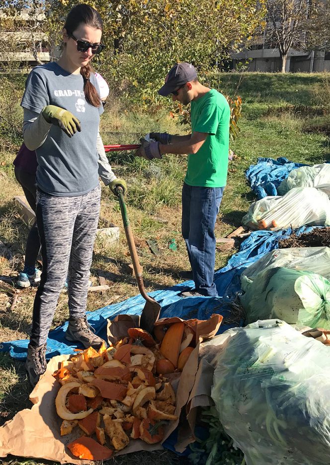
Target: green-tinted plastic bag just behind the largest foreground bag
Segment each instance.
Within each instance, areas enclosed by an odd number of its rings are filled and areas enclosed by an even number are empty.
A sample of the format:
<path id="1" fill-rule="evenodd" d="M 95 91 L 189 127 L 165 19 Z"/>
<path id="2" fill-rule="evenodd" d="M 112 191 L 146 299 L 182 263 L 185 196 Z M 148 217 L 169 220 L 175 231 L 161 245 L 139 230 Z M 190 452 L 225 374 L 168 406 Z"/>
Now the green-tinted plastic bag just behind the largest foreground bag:
<path id="1" fill-rule="evenodd" d="M 271 268 L 243 278 L 241 303 L 248 323 L 279 318 L 289 324 L 330 329 L 330 282 L 316 273 Z M 329 354 L 330 355 L 330 354 Z"/>

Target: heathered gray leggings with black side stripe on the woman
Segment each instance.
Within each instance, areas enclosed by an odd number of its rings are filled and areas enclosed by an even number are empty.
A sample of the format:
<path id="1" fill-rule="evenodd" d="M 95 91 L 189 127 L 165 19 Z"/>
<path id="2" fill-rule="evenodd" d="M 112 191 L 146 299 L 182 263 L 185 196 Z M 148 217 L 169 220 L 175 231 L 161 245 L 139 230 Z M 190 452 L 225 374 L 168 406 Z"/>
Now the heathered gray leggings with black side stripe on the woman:
<path id="1" fill-rule="evenodd" d="M 43 271 L 33 305 L 30 338 L 33 347 L 47 340 L 67 274 L 70 316 L 85 315 L 100 195 L 99 185 L 77 197 L 56 197 L 37 191 Z"/>

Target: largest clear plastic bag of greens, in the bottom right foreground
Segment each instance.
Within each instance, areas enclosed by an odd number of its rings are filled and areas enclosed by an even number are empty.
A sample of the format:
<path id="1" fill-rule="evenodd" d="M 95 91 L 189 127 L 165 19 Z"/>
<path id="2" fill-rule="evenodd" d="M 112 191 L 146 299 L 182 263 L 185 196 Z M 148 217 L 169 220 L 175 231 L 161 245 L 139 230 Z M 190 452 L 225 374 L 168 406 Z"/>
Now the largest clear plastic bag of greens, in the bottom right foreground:
<path id="1" fill-rule="evenodd" d="M 247 465 L 328 465 L 330 348 L 276 320 L 226 332 L 211 395 Z"/>

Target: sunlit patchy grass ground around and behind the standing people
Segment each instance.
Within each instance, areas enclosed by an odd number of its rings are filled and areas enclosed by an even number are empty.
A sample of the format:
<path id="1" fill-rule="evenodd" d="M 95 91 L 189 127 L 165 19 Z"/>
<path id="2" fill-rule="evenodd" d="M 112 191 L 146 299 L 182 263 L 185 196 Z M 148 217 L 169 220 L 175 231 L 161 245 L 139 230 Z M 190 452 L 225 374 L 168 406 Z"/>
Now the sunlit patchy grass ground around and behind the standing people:
<path id="1" fill-rule="evenodd" d="M 216 235 L 224 236 L 241 224 L 242 216 L 254 199 L 245 180 L 245 171 L 250 164 L 256 163 L 257 157 L 284 156 L 295 162 L 310 164 L 330 159 L 330 81 L 327 75 L 307 74 L 246 74 L 243 79 L 239 74 L 224 74 L 220 78 L 220 90 L 243 97 L 241 133 L 231 143 L 238 158 L 229 165 L 228 186 L 216 225 Z M 137 143 L 140 136 L 151 130 L 181 133 L 183 129 L 165 113 L 127 112 L 125 105 L 114 99 L 106 107 L 101 134 L 104 144 Z M 17 260 L 12 266 L 0 258 L 0 275 L 10 277 L 17 275 L 22 266 L 28 228 L 20 220 L 12 201 L 14 195 L 22 194 L 12 167 L 18 146 L 4 135 L 1 142 L 0 240 Z M 110 160 L 116 175 L 125 178 L 129 186 L 128 213 L 144 267 L 147 291 L 173 285 L 179 281 L 178 273 L 188 269 L 185 245 L 180 237 L 180 192 L 185 156 L 166 156 L 163 160 L 149 163 L 121 153 L 112 154 Z M 111 249 L 99 247 L 94 254 L 91 268 L 93 284 L 98 284 L 98 273 L 102 271 L 110 289 L 102 294 L 88 294 L 87 310 L 90 311 L 138 293 L 135 280 L 129 274 L 130 258 L 119 205 L 104 186 L 101 214 L 120 226 L 121 236 L 116 246 Z M 155 217 L 161 217 L 165 222 Z M 147 239 L 157 240 L 160 256 L 151 254 Z M 172 239 L 177 244 L 175 252 L 168 248 Z M 217 252 L 217 269 L 226 264 L 231 253 Z M 21 291 L 16 306 L 10 309 L 11 297 L 0 292 L 0 341 L 28 338 L 34 294 L 34 288 Z M 63 293 L 53 327 L 63 323 L 67 317 L 67 295 Z M 29 392 L 22 364 L 0 354 L 0 424 L 22 408 L 31 406 Z M 177 456 L 170 452 L 139 453 L 118 458 L 112 463 L 131 465 L 139 460 L 157 465 L 179 463 Z M 35 465 L 46 462 L 9 457 L 3 463 Z"/>

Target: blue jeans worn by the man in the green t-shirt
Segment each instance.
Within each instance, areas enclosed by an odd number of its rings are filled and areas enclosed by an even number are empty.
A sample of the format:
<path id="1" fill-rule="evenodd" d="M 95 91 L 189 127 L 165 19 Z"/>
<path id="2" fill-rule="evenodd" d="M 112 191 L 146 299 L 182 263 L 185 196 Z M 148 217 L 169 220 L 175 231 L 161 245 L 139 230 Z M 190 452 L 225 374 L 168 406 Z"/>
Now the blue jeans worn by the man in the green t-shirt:
<path id="1" fill-rule="evenodd" d="M 214 227 L 224 187 L 183 184 L 182 236 L 185 240 L 196 291 L 217 296 L 213 282 L 215 266 Z"/>

